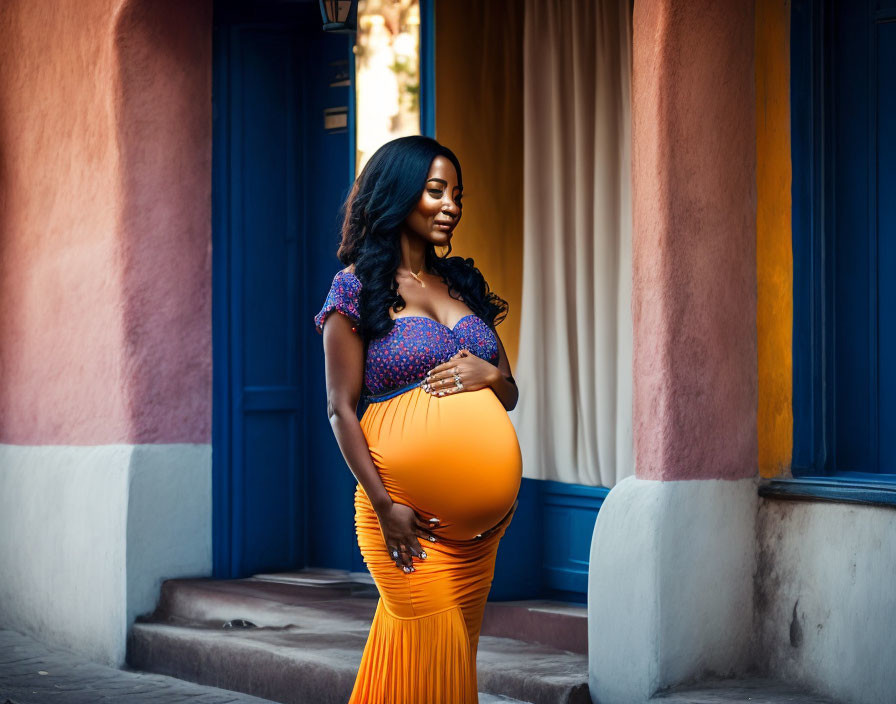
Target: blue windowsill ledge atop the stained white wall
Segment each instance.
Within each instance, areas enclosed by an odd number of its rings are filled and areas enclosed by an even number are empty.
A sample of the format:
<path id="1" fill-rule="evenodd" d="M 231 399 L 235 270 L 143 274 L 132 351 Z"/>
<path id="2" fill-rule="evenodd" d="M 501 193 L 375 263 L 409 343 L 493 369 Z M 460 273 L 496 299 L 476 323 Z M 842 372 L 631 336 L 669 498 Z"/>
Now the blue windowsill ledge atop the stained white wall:
<path id="1" fill-rule="evenodd" d="M 885 477 L 887 481 L 882 481 Z M 831 477 L 772 479 L 760 484 L 759 495 L 769 499 L 832 501 L 896 508 L 896 476 L 851 476 L 848 481 Z"/>

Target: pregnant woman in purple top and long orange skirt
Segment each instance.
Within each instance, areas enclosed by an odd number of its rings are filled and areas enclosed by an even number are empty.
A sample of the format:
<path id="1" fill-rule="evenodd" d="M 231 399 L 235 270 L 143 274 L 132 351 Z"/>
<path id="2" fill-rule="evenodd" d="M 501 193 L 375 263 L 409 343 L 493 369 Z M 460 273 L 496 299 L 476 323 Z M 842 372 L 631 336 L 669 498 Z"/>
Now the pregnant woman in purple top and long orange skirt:
<path id="1" fill-rule="evenodd" d="M 494 330 L 507 303 L 472 259 L 448 256 L 462 191 L 457 158 L 435 140 L 381 147 L 346 201 L 346 268 L 314 319 L 380 594 L 349 704 L 478 702 L 482 614 L 522 457 Z"/>

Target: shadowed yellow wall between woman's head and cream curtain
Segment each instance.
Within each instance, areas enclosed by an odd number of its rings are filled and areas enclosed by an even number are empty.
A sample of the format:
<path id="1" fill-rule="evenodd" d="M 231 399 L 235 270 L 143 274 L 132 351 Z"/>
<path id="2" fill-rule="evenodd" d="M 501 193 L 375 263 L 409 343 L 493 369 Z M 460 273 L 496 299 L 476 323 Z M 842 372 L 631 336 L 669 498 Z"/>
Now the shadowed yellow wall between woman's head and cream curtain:
<path id="1" fill-rule="evenodd" d="M 452 254 L 472 257 L 505 299 L 497 331 L 511 368 L 523 274 L 523 3 L 437 0 L 436 139 L 460 160 L 464 215 Z"/>

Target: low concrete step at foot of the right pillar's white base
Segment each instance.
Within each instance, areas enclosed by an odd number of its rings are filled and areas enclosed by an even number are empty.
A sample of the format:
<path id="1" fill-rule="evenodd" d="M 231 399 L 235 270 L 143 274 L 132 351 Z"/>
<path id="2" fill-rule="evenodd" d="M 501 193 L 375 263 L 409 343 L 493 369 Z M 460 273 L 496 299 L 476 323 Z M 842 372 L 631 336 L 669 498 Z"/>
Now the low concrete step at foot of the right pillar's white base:
<path id="1" fill-rule="evenodd" d="M 769 679 L 718 680 L 653 697 L 657 704 L 837 704 L 785 682 Z"/>

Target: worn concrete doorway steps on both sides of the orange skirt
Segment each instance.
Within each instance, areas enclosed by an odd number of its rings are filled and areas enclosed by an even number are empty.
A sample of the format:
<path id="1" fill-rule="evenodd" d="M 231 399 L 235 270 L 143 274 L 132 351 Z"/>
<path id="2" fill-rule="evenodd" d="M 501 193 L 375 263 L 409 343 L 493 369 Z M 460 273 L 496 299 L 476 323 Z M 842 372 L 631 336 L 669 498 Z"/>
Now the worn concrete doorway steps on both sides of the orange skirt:
<path id="1" fill-rule="evenodd" d="M 167 580 L 156 610 L 128 635 L 127 661 L 277 702 L 344 704 L 377 597 L 369 576 L 326 570 Z M 529 638 L 584 650 L 587 630 L 576 635 L 584 611 L 545 601 L 490 604 L 477 662 L 483 704 L 590 704 L 585 653 Z M 223 627 L 236 619 L 254 625 Z"/>

